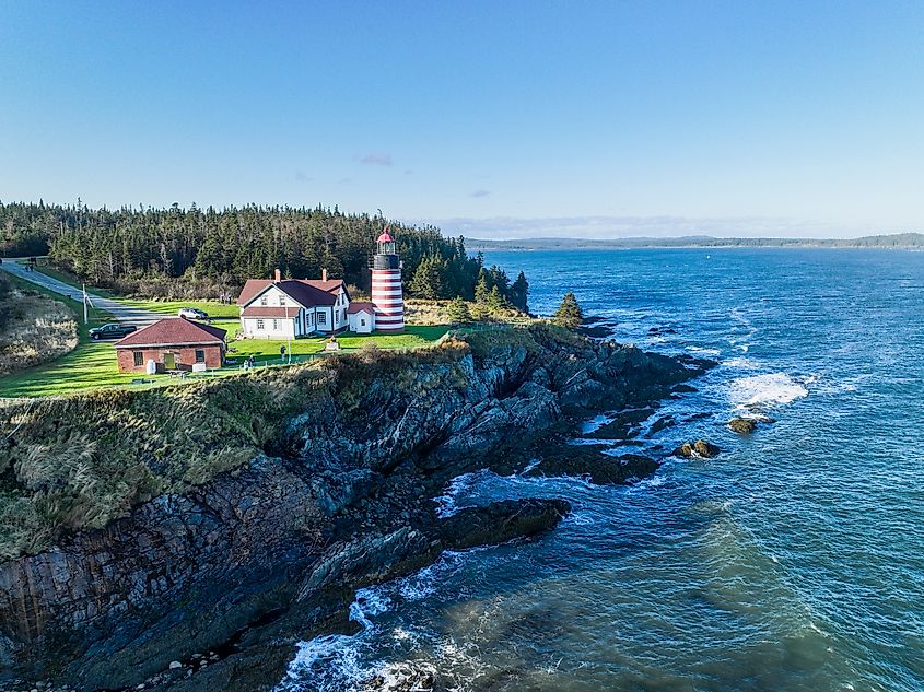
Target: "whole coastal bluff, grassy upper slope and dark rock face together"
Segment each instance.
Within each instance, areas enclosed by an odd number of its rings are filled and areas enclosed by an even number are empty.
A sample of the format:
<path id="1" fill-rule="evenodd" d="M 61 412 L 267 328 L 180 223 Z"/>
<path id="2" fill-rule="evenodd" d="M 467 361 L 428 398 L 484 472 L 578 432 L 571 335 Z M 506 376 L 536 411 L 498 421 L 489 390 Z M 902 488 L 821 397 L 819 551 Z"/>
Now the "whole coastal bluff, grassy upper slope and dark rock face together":
<path id="1" fill-rule="evenodd" d="M 657 407 L 709 365 L 534 325 L 5 404 L 0 685 L 270 689 L 295 642 L 355 630 L 358 588 L 569 512 L 526 499 L 442 516 L 451 479 L 543 455 L 549 474 L 651 473 L 653 460 L 587 449 L 563 460 L 564 441 L 588 415 Z"/>

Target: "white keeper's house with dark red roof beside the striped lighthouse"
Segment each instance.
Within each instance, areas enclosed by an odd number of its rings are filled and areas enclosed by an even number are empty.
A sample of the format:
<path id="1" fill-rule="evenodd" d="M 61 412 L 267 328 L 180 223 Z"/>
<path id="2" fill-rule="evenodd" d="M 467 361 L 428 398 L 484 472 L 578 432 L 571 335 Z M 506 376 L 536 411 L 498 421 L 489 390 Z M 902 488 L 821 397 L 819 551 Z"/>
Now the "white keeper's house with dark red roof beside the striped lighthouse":
<path id="1" fill-rule="evenodd" d="M 350 294 L 342 279 L 248 279 L 237 298 L 241 329 L 247 339 L 297 339 L 317 333 L 336 333 L 351 327 Z M 359 314 L 359 313 L 355 313 Z M 359 318 L 354 320 L 356 327 Z M 370 332 L 367 329 L 353 331 Z"/>

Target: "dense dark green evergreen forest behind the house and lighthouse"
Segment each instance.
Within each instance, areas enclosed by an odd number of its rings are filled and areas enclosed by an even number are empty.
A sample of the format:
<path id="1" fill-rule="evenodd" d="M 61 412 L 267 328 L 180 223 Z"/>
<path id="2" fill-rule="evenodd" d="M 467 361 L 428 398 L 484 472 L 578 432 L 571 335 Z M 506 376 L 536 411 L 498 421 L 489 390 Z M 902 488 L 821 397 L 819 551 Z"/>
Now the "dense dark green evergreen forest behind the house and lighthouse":
<path id="1" fill-rule="evenodd" d="M 389 225 L 403 262 L 406 288 L 426 298 L 476 300 L 487 290 L 527 309 L 528 283 L 469 255 L 465 239 L 435 226 L 348 214 L 337 207 L 91 209 L 75 204 L 0 202 L 0 254 L 45 255 L 94 285 L 165 297 L 234 294 L 247 279 L 316 278 L 321 269 L 362 291 L 370 286 L 375 238 Z"/>

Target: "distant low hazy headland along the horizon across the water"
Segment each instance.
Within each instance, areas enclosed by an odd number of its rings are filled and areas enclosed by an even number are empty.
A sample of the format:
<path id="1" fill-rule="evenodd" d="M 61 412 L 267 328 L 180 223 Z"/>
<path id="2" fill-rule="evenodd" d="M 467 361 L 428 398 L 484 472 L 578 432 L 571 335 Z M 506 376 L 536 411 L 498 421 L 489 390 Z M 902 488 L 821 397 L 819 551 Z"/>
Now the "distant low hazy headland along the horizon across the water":
<path id="1" fill-rule="evenodd" d="M 832 247 L 902 249 L 924 247 L 922 233 L 867 235 L 859 238 L 722 238 L 710 235 L 686 235 L 674 238 L 525 238 L 488 241 L 467 238 L 471 250 L 552 250 L 645 247 Z"/>

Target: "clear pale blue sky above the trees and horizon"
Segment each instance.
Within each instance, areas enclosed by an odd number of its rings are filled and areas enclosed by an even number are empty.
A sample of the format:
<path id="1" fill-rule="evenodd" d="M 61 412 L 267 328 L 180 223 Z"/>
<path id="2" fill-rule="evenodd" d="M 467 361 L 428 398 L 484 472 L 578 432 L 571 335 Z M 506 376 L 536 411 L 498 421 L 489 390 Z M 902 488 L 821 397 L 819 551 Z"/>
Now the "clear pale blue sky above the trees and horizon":
<path id="1" fill-rule="evenodd" d="M 924 2 L 0 2 L 0 199 L 924 230 Z"/>

